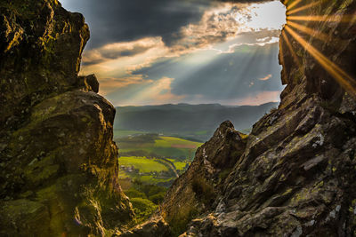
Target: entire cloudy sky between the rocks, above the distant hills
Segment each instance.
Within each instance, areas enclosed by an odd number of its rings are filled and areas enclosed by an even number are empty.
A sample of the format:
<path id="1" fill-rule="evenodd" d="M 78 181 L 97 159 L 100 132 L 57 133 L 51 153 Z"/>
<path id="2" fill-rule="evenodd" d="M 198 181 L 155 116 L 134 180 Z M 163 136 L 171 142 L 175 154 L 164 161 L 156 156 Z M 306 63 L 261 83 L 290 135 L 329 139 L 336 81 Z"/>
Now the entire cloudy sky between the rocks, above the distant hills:
<path id="1" fill-rule="evenodd" d="M 91 31 L 80 74 L 114 106 L 279 101 L 286 9 L 259 0 L 61 0 Z"/>

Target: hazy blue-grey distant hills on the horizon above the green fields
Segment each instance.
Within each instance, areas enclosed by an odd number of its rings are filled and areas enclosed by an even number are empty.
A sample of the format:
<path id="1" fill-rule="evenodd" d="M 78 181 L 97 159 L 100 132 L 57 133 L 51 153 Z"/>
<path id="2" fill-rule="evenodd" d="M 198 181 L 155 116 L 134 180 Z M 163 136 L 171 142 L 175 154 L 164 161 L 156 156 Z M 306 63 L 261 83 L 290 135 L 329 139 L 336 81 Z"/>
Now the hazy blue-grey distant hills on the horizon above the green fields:
<path id="1" fill-rule="evenodd" d="M 117 107 L 114 129 L 206 140 L 225 120 L 230 120 L 237 130 L 249 130 L 259 118 L 277 106 L 278 103 L 271 102 L 242 107 L 220 104 Z"/>

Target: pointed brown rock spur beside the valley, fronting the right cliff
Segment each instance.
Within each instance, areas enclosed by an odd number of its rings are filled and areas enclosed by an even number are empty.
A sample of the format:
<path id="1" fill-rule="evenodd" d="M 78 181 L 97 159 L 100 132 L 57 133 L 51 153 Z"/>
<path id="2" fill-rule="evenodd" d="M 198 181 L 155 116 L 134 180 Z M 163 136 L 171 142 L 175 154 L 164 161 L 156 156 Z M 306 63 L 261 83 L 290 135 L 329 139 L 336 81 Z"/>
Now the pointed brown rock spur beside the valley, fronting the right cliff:
<path id="1" fill-rule="evenodd" d="M 184 230 L 192 217 L 204 213 L 222 194 L 223 181 L 245 150 L 247 136 L 223 122 L 213 138 L 197 150 L 189 169 L 166 194 L 162 216 L 174 233 Z"/>

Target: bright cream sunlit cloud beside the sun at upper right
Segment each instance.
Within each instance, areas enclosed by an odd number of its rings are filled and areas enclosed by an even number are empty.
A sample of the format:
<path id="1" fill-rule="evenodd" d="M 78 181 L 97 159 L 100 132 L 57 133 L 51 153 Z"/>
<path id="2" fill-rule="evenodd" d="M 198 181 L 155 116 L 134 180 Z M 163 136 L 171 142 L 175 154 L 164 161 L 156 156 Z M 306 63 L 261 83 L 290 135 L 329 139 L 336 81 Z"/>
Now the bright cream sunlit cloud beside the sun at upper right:
<path id="1" fill-rule="evenodd" d="M 271 26 L 267 27 L 268 24 L 264 22 L 266 20 L 261 20 L 259 15 L 266 15 L 263 9 L 269 9 L 271 6 L 274 6 L 276 11 L 284 11 L 277 2 L 253 5 L 219 4 L 206 10 L 198 22 L 182 27 L 179 37 L 171 43 L 170 49 L 184 54 L 198 49 L 210 49 L 217 43 L 230 42 L 231 52 L 234 47 L 242 44 L 263 46 L 266 43 L 276 43 L 279 41 L 283 19 L 276 17 L 277 20 L 271 20 Z M 236 39 L 237 43 L 231 43 L 233 39 Z"/>

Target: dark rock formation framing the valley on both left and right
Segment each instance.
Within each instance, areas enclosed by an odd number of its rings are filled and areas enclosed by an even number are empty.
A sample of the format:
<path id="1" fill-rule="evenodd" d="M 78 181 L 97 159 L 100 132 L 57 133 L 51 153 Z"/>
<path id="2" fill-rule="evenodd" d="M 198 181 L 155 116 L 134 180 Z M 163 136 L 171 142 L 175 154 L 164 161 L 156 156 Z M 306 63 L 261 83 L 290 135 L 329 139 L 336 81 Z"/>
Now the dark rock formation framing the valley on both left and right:
<path id="1" fill-rule="evenodd" d="M 115 109 L 77 76 L 83 17 L 56 0 L 2 1 L 0 235 L 355 236 L 356 2 L 286 5 L 279 108 L 248 137 L 223 122 L 155 217 L 120 234 L 133 211 Z"/>

